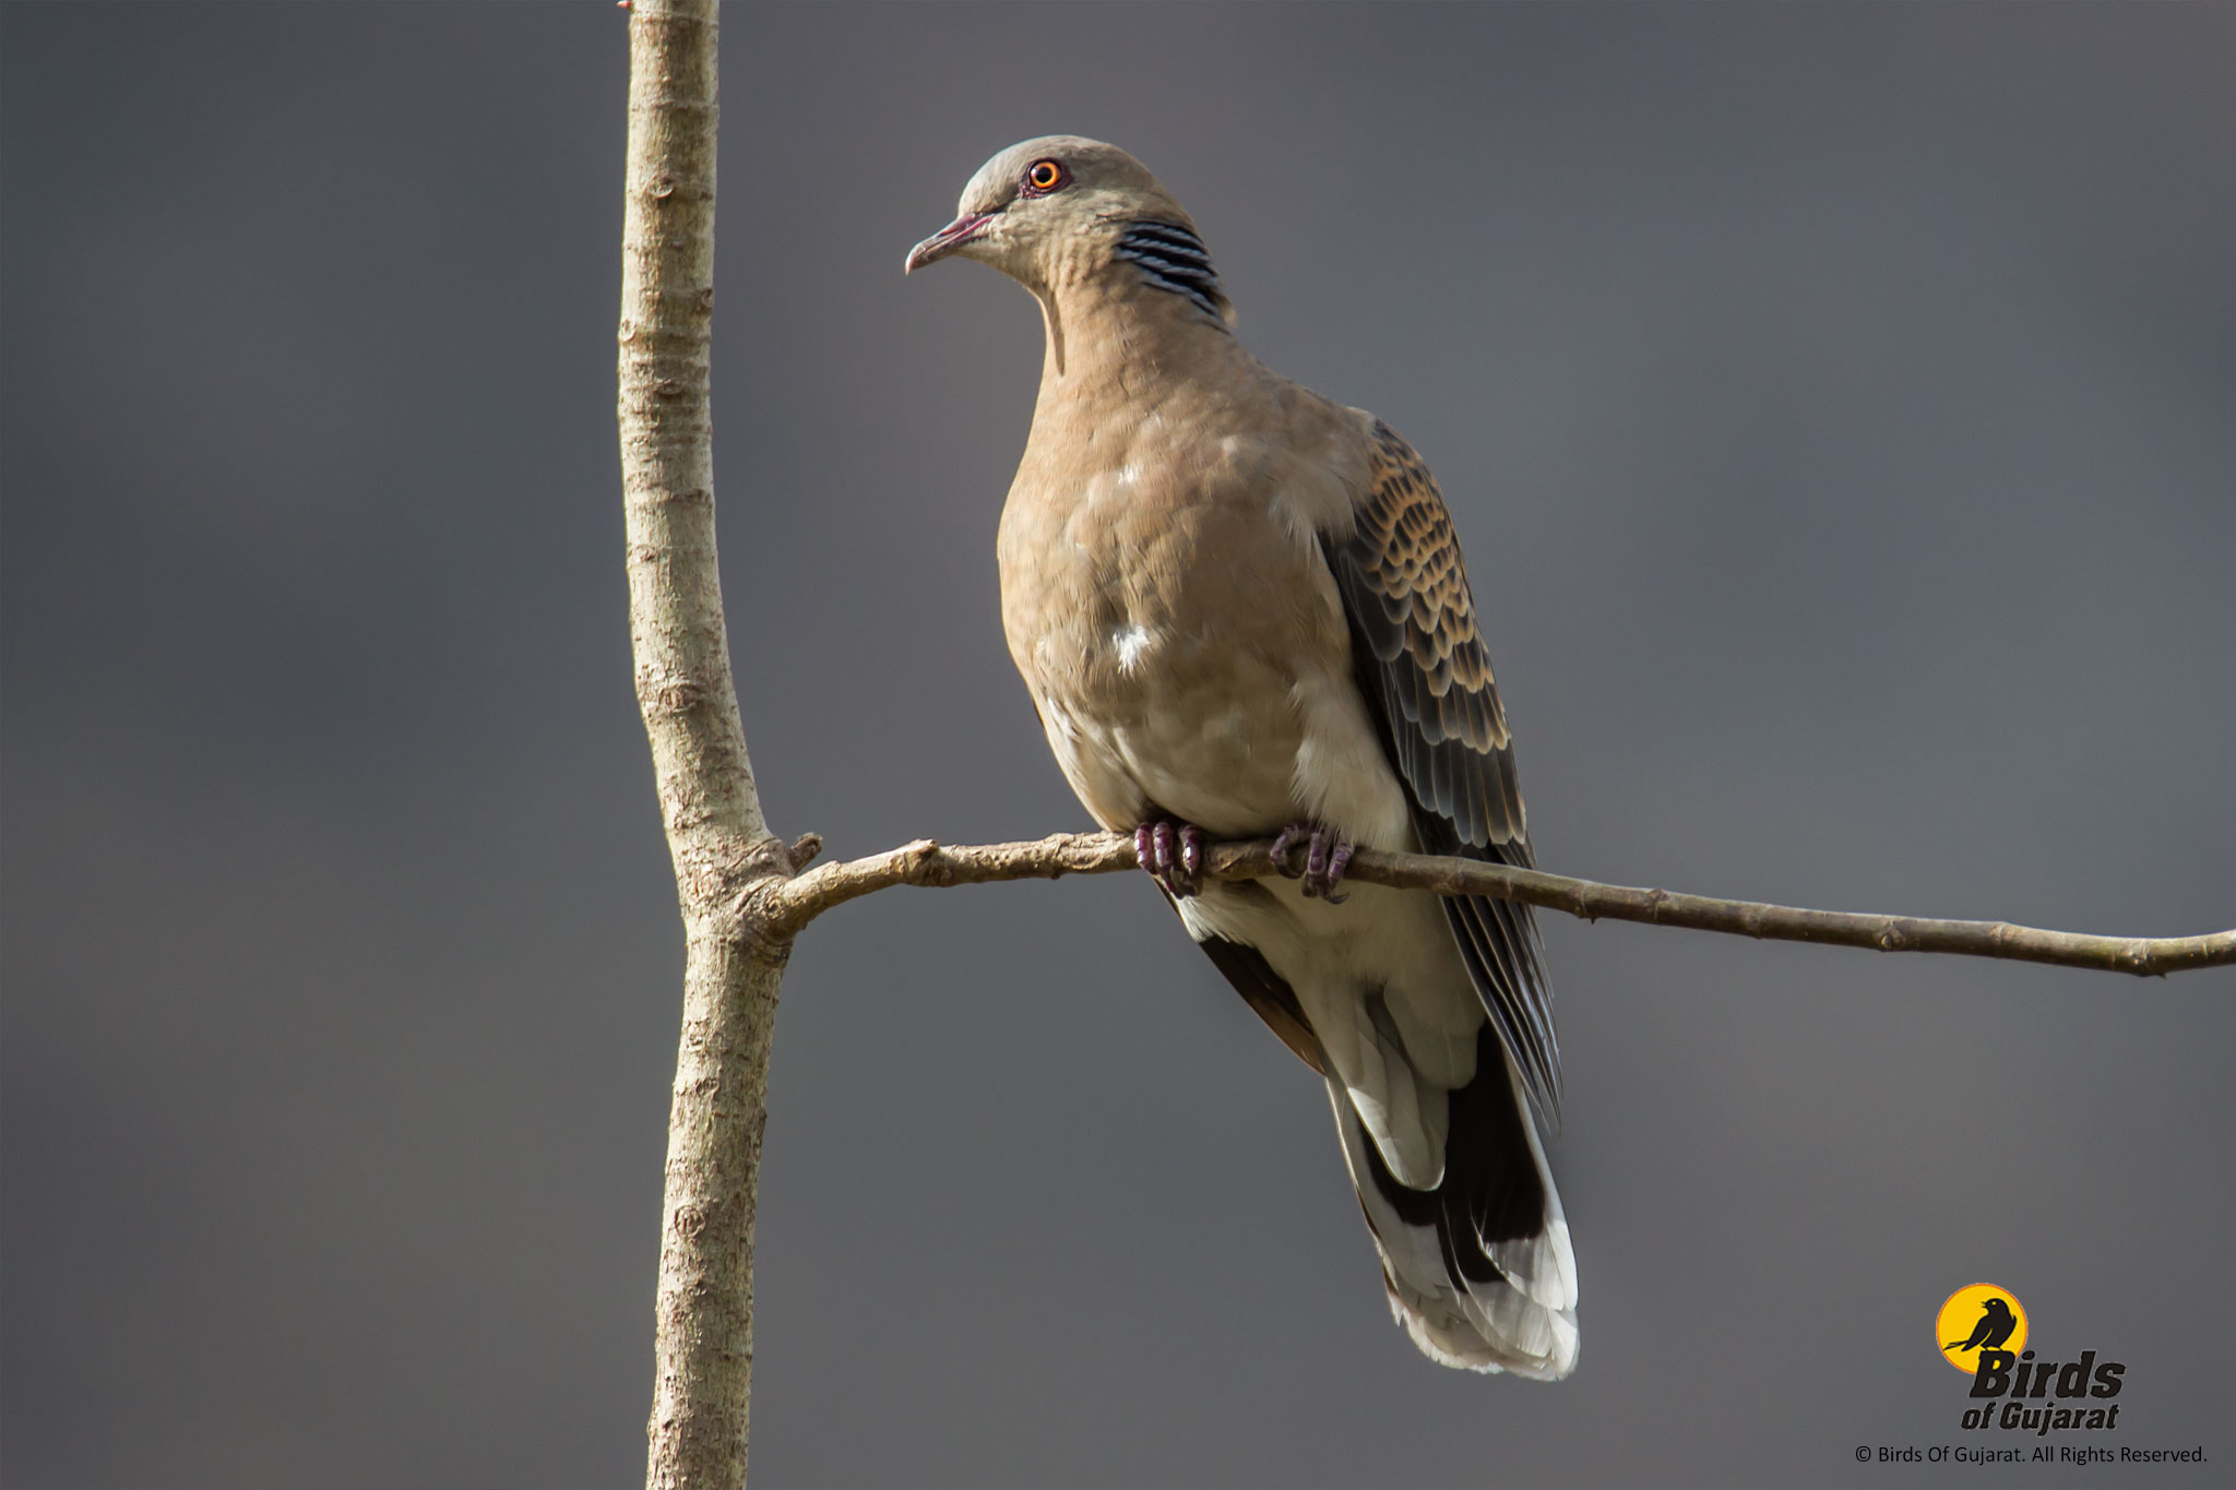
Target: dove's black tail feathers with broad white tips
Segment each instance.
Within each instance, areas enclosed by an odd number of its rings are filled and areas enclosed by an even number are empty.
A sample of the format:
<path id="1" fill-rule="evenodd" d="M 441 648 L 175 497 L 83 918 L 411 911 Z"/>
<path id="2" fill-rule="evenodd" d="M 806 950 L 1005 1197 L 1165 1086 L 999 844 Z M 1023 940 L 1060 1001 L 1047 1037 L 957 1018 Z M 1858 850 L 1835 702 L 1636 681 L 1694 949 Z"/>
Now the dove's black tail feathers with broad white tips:
<path id="1" fill-rule="evenodd" d="M 1391 1314 L 1413 1343 L 1442 1365 L 1558 1381 L 1576 1369 L 1576 1253 L 1514 1066 L 1489 1023 L 1476 1039 L 1433 1191 L 1391 1175 L 1333 1077 L 1328 1101 Z"/>

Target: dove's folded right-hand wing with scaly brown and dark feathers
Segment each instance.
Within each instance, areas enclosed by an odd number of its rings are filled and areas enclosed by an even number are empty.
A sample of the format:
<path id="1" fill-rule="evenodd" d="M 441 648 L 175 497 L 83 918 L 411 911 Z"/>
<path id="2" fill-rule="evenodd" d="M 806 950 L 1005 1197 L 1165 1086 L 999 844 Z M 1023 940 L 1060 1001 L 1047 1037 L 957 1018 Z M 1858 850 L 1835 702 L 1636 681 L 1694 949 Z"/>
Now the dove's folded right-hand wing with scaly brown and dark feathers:
<path id="1" fill-rule="evenodd" d="M 1351 617 L 1353 672 L 1404 782 L 1422 853 L 1532 865 L 1514 742 L 1451 514 L 1429 467 L 1382 420 L 1357 527 L 1348 541 L 1321 538 L 1321 550 Z M 1532 1101 L 1554 1119 L 1561 1050 L 1529 907 L 1447 896 L 1444 916 Z"/>

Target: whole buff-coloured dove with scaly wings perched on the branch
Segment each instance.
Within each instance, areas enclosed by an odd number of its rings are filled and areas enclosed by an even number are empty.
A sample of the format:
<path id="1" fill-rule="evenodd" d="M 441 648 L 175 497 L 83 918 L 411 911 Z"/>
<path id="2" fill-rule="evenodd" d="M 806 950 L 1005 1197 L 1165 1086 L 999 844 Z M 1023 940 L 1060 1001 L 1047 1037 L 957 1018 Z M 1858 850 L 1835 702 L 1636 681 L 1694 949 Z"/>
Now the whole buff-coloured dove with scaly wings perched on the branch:
<path id="1" fill-rule="evenodd" d="M 1335 889 L 1353 847 L 1532 862 L 1436 478 L 1234 340 L 1194 221 L 1114 145 L 986 161 L 908 268 L 950 255 L 1046 322 L 1002 623 L 1064 777 L 1326 1079 L 1420 1349 L 1567 1376 L 1576 1260 L 1532 1119 L 1558 1057 L 1529 909 Z M 1268 833 L 1297 880 L 1201 880 L 1205 835 Z"/>

